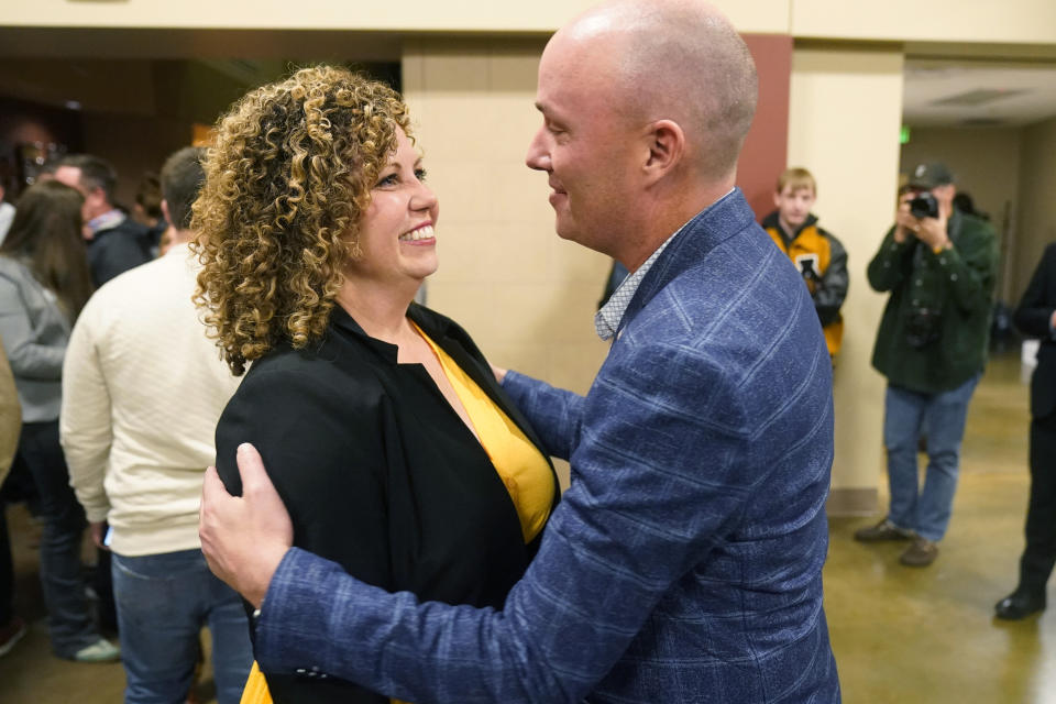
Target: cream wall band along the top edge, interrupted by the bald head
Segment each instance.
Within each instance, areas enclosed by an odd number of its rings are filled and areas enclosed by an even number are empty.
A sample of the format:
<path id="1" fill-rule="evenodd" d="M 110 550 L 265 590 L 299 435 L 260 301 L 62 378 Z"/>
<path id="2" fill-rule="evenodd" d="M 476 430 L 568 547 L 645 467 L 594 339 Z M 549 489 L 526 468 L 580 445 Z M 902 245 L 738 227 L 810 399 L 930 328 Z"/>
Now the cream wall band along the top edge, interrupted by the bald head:
<path id="1" fill-rule="evenodd" d="M 552 32 L 594 0 L 384 2 L 148 0 L 0 3 L 0 26 L 282 28 L 376 31 Z M 715 0 L 741 32 L 924 42 L 1056 42 L 1052 0 Z"/>

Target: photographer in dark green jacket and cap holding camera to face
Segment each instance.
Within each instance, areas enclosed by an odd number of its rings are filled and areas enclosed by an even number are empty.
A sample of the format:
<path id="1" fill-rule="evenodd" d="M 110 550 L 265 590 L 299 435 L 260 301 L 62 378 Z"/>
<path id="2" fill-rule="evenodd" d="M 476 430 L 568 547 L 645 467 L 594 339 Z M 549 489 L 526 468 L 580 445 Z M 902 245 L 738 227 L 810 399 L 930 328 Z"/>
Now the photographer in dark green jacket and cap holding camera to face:
<path id="1" fill-rule="evenodd" d="M 922 164 L 899 200 L 894 227 L 869 263 L 869 285 L 890 292 L 872 365 L 888 377 L 883 444 L 891 505 L 855 539 L 912 540 L 899 561 L 938 556 L 957 488 L 968 402 L 987 358 L 998 241 L 986 221 L 955 210 L 945 165 Z M 927 439 L 920 488 L 916 453 Z"/>

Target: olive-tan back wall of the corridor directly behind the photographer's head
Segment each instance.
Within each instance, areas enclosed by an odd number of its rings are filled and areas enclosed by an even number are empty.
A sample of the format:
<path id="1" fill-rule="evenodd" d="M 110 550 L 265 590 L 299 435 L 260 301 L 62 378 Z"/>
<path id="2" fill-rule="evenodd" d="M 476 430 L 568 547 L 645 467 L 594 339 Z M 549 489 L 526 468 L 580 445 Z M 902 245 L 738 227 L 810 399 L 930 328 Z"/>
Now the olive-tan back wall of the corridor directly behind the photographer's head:
<path id="1" fill-rule="evenodd" d="M 1001 276 L 997 294 L 1004 301 L 1019 296 L 1021 284 L 1012 262 L 1020 246 L 1015 212 L 1020 197 L 1020 129 L 921 128 L 902 146 L 903 174 L 916 164 L 930 161 L 945 163 L 957 178 L 957 188 L 971 194 L 976 208 L 990 215 L 1002 238 Z M 1008 219 L 1008 222 L 1005 220 Z"/>

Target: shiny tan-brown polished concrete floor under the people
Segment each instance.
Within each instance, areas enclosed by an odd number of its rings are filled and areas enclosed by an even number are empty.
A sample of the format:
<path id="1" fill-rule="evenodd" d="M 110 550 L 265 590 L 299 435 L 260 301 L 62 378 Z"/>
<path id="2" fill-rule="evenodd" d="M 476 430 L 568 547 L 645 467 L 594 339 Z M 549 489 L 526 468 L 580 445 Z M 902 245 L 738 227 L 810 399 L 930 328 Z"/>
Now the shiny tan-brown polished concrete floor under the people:
<path id="1" fill-rule="evenodd" d="M 1056 704 L 1056 608 L 1021 623 L 992 617 L 993 603 L 1014 586 L 1023 547 L 1028 418 L 1020 375 L 1019 360 L 1002 356 L 976 392 L 954 518 L 935 564 L 904 568 L 902 544 L 854 542 L 854 530 L 876 517 L 831 521 L 825 607 L 845 703 Z M 8 513 L 16 606 L 32 626 L 0 658 L 0 704 L 120 702 L 120 664 L 51 656 L 36 528 L 22 507 Z M 215 702 L 209 679 L 207 668 L 196 690 L 204 703 Z"/>

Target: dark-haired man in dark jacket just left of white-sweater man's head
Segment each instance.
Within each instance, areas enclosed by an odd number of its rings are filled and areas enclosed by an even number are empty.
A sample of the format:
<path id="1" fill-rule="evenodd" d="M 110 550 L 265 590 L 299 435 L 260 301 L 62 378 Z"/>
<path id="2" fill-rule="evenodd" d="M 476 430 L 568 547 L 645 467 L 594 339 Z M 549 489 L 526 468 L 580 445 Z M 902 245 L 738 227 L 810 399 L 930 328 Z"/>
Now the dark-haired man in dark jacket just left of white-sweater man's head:
<path id="1" fill-rule="evenodd" d="M 113 202 L 118 174 L 109 162 L 90 154 L 67 156 L 58 163 L 55 179 L 73 186 L 85 197 L 84 235 L 96 288 L 151 258 L 147 229 Z"/>

